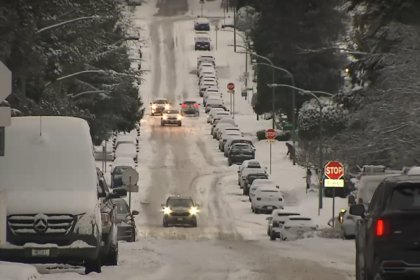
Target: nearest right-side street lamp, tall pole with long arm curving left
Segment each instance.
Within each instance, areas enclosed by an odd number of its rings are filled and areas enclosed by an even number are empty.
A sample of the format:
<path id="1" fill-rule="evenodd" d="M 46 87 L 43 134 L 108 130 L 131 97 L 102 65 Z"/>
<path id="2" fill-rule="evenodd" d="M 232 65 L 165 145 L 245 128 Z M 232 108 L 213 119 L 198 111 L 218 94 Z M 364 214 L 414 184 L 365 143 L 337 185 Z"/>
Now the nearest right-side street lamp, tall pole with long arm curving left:
<path id="1" fill-rule="evenodd" d="M 323 142 L 323 134 L 322 134 L 322 104 L 321 104 L 321 100 L 318 98 L 318 96 L 315 95 L 315 93 L 319 93 L 319 94 L 325 94 L 328 96 L 333 96 L 333 94 L 325 92 L 325 91 L 310 91 L 310 90 L 304 90 L 301 88 L 297 88 L 295 86 L 291 86 L 291 85 L 286 85 L 286 84 L 269 84 L 269 87 L 275 88 L 275 87 L 288 87 L 294 90 L 297 90 L 299 93 L 301 94 L 309 94 L 311 95 L 313 98 L 315 98 L 315 100 L 318 102 L 319 105 L 319 166 L 320 166 L 320 180 L 319 180 L 319 202 L 318 202 L 318 215 L 321 214 L 321 209 L 322 209 L 322 170 L 323 170 L 323 166 L 324 166 L 324 154 L 323 154 L 323 146 L 324 146 L 324 142 Z"/>

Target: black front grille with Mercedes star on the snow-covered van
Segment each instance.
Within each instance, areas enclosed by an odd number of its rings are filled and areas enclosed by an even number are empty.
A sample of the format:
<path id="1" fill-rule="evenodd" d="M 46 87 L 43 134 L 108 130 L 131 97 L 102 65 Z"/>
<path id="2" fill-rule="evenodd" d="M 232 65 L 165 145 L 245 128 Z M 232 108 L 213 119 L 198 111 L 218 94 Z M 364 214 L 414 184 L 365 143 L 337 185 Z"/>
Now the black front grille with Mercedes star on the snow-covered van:
<path id="1" fill-rule="evenodd" d="M 37 230 L 36 223 L 46 221 L 46 230 Z M 64 235 L 73 226 L 73 215 L 12 215 L 7 218 L 9 229 L 15 235 Z"/>

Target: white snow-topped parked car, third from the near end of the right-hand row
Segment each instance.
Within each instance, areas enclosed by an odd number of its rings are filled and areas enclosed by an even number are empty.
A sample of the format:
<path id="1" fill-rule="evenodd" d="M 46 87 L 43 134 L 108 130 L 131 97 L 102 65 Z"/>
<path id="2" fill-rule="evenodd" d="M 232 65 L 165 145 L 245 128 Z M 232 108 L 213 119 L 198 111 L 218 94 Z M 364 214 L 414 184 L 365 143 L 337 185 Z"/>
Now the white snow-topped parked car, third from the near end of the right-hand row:
<path id="1" fill-rule="evenodd" d="M 261 186 L 251 196 L 251 209 L 255 214 L 271 213 L 274 209 L 284 209 L 283 195 L 277 188 Z"/>

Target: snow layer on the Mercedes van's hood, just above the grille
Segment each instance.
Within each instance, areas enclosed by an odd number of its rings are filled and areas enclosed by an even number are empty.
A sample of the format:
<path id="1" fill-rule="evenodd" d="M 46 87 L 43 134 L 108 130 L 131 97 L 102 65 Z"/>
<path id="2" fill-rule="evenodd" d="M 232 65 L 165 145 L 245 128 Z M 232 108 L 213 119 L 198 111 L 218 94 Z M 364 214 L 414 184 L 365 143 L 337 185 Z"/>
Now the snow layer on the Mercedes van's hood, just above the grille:
<path id="1" fill-rule="evenodd" d="M 57 182 L 59 183 L 59 182 Z M 7 214 L 82 214 L 92 213 L 98 203 L 96 192 L 81 191 L 7 191 Z"/>

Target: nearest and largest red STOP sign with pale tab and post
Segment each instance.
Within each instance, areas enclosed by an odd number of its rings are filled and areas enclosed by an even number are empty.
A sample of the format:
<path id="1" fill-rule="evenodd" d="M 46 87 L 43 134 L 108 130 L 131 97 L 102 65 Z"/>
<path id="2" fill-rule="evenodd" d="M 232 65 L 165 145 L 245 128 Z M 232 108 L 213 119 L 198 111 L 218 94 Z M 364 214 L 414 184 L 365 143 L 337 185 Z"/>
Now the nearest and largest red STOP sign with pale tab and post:
<path id="1" fill-rule="evenodd" d="M 324 167 L 324 187 L 333 188 L 332 227 L 335 226 L 335 188 L 344 188 L 344 165 L 338 161 L 330 161 Z"/>

